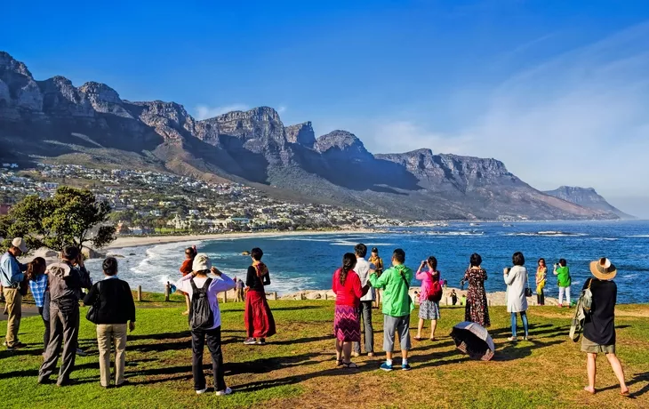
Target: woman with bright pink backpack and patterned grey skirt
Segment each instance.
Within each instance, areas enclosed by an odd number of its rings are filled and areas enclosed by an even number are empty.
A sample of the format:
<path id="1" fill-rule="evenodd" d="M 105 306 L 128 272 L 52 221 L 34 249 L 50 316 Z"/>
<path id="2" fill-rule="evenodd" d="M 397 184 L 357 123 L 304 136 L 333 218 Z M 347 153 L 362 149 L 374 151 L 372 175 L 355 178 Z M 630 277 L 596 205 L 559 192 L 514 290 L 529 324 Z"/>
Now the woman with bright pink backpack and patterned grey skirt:
<path id="1" fill-rule="evenodd" d="M 425 269 L 428 267 L 428 269 Z M 437 259 L 433 256 L 427 261 L 421 261 L 421 266 L 417 270 L 415 278 L 421 280 L 421 290 L 419 293 L 419 327 L 415 340 L 421 341 L 421 330 L 424 328 L 424 321 L 430 320 L 430 341 L 435 340 L 435 330 L 437 329 L 437 320 L 439 319 L 439 300 L 442 297 L 442 285 L 439 281 L 439 271 L 437 271 Z"/>

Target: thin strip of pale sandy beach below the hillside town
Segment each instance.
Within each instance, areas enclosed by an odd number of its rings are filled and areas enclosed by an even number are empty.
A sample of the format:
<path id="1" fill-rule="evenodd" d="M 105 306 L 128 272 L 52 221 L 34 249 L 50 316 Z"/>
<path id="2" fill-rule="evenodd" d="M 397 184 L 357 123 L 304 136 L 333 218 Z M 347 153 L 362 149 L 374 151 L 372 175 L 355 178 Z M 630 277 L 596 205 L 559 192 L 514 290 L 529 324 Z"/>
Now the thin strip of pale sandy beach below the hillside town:
<path id="1" fill-rule="evenodd" d="M 149 237 L 117 237 L 110 245 L 98 249 L 100 252 L 119 250 L 125 247 L 139 247 L 143 245 L 164 245 L 180 242 L 202 242 L 205 240 L 242 239 L 250 237 L 300 237 L 300 236 L 324 236 L 324 235 L 352 235 L 379 233 L 379 229 L 358 229 L 358 230 L 305 230 L 305 231 L 274 231 L 274 232 L 250 232 L 250 233 L 215 233 L 208 235 L 180 235 L 180 236 L 149 236 Z"/>

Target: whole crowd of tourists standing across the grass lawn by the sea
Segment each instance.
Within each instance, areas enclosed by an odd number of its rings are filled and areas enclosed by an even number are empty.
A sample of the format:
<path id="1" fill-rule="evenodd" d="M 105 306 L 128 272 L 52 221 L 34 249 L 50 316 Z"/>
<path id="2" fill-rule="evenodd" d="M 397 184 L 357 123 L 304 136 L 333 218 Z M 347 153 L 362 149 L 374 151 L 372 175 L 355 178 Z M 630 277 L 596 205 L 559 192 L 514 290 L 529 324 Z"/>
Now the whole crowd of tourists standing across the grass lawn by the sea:
<path id="1" fill-rule="evenodd" d="M 336 338 L 337 365 L 354 369 L 358 366 L 351 361 L 361 352 L 361 323 L 365 333 L 365 353 L 375 355 L 373 346 L 372 308 L 373 302 L 382 291 L 383 300 L 383 350 L 386 360 L 381 370 L 394 369 L 393 351 L 398 337 L 401 349 L 401 369 L 409 371 L 408 353 L 411 349 L 410 315 L 415 308 L 410 296 L 413 278 L 421 281 L 419 297 L 419 325 L 417 341 L 422 341 L 421 332 L 425 321 L 431 321 L 429 340 L 435 341 L 437 320 L 440 318 L 439 301 L 442 297 L 442 280 L 437 270 L 437 259 L 433 256 L 425 261 L 416 272 L 405 265 L 405 252 L 397 249 L 392 253 L 390 267 L 384 269 L 383 261 L 376 248 L 372 257 L 366 261 L 367 247 L 356 245 L 355 253 L 343 255 L 341 268 L 333 273 L 332 289 L 336 295 L 333 334 Z M 4 312 L 8 315 L 7 333 L 4 345 L 7 349 L 20 349 L 24 344 L 18 340 L 21 317 L 22 295 L 26 293 L 27 283 L 33 293 L 38 311 L 43 318 L 44 363 L 41 365 L 38 382 L 47 383 L 56 369 L 62 352 L 62 364 L 57 379 L 60 386 L 72 383 L 70 373 L 76 359 L 79 333 L 79 302 L 90 306 L 86 318 L 96 325 L 100 357 L 100 385 L 109 388 L 110 351 L 115 350 L 115 386 L 124 381 L 125 346 L 127 329 L 135 329 L 135 305 L 128 283 L 117 277 L 117 261 L 108 257 L 103 261 L 104 278 L 97 283 L 84 267 L 84 256 L 78 247 L 65 246 L 61 261 L 49 266 L 42 258 L 22 264 L 18 257 L 28 252 L 24 241 L 19 237 L 12 241 L 10 249 L 0 259 L 0 281 L 5 299 Z M 233 280 L 223 274 L 205 253 L 197 253 L 196 247 L 186 249 L 186 260 L 180 271 L 183 277 L 177 283 L 178 290 L 187 297 L 188 316 L 192 344 L 192 370 L 194 389 L 197 394 L 204 393 L 206 382 L 203 371 L 204 345 L 212 356 L 214 390 L 217 395 L 232 392 L 224 379 L 223 355 L 221 352 L 220 308 L 217 294 L 236 288 L 238 299 L 245 300 L 244 325 L 246 345 L 264 345 L 266 339 L 276 333 L 275 320 L 268 306 L 265 286 L 270 284 L 268 267 L 261 261 L 263 252 L 259 248 L 251 251 L 252 264 L 247 269 L 245 282 Z M 487 273 L 481 267 L 482 258 L 474 253 L 469 259 L 463 282 L 468 282 L 465 319 L 488 327 L 490 322 L 485 280 Z M 504 269 L 503 280 L 508 286 L 507 311 L 511 315 L 512 335 L 509 341 L 517 341 L 517 315 L 521 316 L 525 331 L 524 340 L 529 340 L 527 297 L 532 295 L 529 285 L 525 257 L 514 253 L 513 267 Z M 588 306 L 588 314 L 581 320 L 573 320 L 583 326 L 582 351 L 588 354 L 587 372 L 589 393 L 595 393 L 596 357 L 606 354 L 613 372 L 621 384 L 621 394 L 629 395 L 624 382 L 624 373 L 619 359 L 615 356 L 614 306 L 617 287 L 613 282 L 616 274 L 611 261 L 600 259 L 590 265 L 593 277 L 583 286 L 580 306 Z M 567 263 L 561 259 L 554 268 L 559 285 L 559 303 L 563 304 L 563 294 L 567 296 L 570 307 L 571 277 Z M 538 261 L 536 289 L 538 304 L 544 304 L 543 288 L 547 281 L 547 267 L 543 259 Z M 240 284 L 239 284 L 240 283 Z M 245 287 L 245 288 L 244 288 Z M 84 294 L 83 290 L 87 290 Z M 240 291 L 239 291 L 240 290 Z M 454 290 L 453 290 L 454 293 Z M 456 296 L 457 297 L 457 296 Z M 583 300 L 582 300 L 583 299 Z M 454 302 L 453 302 L 454 304 Z M 581 308 L 581 307 L 580 307 Z M 580 309 L 578 308 L 578 311 Z M 575 315 L 577 317 L 577 315 Z"/>

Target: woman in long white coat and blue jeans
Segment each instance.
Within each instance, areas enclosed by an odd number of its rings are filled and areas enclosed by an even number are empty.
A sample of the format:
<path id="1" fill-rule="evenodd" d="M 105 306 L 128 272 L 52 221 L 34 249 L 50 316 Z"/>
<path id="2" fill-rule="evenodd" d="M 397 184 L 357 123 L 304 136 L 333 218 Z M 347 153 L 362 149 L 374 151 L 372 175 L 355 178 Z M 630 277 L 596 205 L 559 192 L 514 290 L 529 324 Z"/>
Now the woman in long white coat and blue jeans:
<path id="1" fill-rule="evenodd" d="M 516 336 L 517 312 L 520 313 L 525 328 L 525 341 L 527 337 L 527 298 L 525 297 L 525 285 L 527 283 L 527 269 L 523 253 L 517 252 L 512 256 L 514 267 L 505 269 L 505 284 L 507 285 L 507 312 L 511 313 L 511 337 L 509 341 L 518 341 Z"/>

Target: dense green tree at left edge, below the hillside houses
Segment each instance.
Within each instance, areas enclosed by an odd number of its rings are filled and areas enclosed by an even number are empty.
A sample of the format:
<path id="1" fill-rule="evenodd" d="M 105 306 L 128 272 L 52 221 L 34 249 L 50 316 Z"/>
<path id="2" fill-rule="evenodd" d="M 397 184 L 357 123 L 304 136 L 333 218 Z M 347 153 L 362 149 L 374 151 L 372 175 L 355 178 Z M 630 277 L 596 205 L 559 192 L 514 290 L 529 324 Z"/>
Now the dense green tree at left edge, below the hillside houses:
<path id="1" fill-rule="evenodd" d="M 0 220 L 0 233 L 9 245 L 12 237 L 24 237 L 30 248 L 47 246 L 60 251 L 65 245 L 95 248 L 115 240 L 115 225 L 108 224 L 110 205 L 98 202 L 88 189 L 62 186 L 54 196 L 28 196 Z"/>

